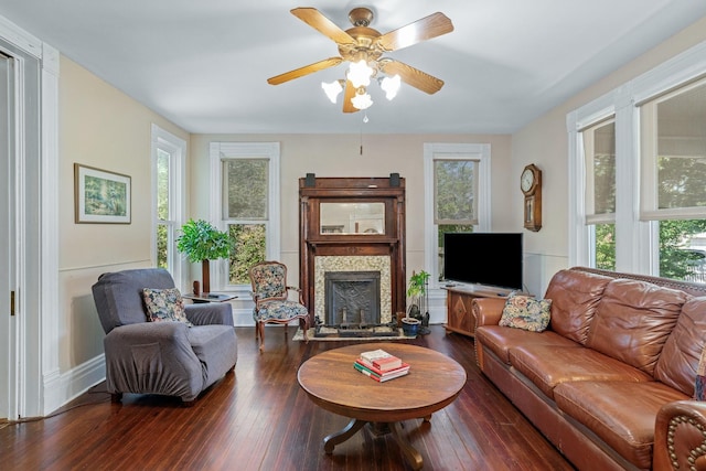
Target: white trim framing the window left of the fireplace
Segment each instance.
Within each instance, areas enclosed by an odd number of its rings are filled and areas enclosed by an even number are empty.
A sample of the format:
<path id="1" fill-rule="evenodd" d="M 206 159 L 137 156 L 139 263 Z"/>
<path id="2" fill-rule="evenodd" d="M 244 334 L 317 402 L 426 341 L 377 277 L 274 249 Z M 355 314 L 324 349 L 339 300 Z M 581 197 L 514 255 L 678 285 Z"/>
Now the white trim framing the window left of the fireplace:
<path id="1" fill-rule="evenodd" d="M 280 170 L 279 142 L 211 142 L 208 148 L 211 160 L 210 176 L 210 218 L 212 224 L 225 231 L 228 221 L 223 218 L 223 160 L 224 159 L 268 159 L 269 160 L 269 192 L 268 218 L 264 221 L 266 231 L 266 258 L 280 259 Z M 260 223 L 260 222 L 258 222 Z M 211 287 L 225 291 L 249 291 L 249 285 L 228 285 L 228 260 L 213 260 L 216 269 L 211 270 Z M 213 265 L 212 265 L 213 267 Z"/>

